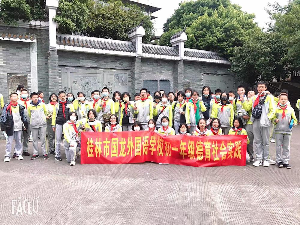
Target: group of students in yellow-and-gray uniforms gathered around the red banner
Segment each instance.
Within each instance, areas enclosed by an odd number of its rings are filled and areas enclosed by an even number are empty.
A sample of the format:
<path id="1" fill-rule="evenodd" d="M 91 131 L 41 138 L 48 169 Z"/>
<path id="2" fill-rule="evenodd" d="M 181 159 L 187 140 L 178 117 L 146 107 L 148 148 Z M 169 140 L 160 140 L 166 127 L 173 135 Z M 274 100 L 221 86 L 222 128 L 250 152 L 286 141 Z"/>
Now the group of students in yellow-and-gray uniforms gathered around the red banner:
<path id="1" fill-rule="evenodd" d="M 49 154 L 55 155 L 56 161 L 61 161 L 60 142 L 64 135 L 63 145 L 70 165 L 75 165 L 80 155 L 82 132 L 147 130 L 163 135 L 246 135 L 247 162 L 255 161 L 253 166 L 256 167 L 269 167 L 271 163 L 291 168 L 289 145 L 297 119 L 287 90 L 275 97 L 267 91 L 266 82 L 259 82 L 257 87 L 258 94 L 248 91 L 246 96 L 245 88 L 238 86 L 237 98 L 234 91 L 227 93 L 220 89 L 213 95 L 209 86 L 202 88 L 201 95 L 186 88 L 168 94 L 155 91 L 153 97 L 142 88 L 135 94 L 134 101 L 128 92 L 115 91 L 109 98 L 109 88 L 104 87 L 101 91 L 92 91 L 90 99 L 81 91 L 76 98 L 64 91 L 58 95 L 52 93 L 49 104 L 44 103 L 42 91 L 31 93 L 29 98 L 28 91 L 20 88 L 19 93 L 10 94 L 10 103 L 3 106 L 1 130 L 7 139 L 4 162 L 10 161 L 13 139 L 16 141 L 13 158 L 20 160 L 22 155 L 30 155 L 30 133 L 33 137 L 31 159 L 39 157 L 39 139 L 43 158 L 48 159 L 46 129 Z M 268 151 L 271 123 L 274 124 L 276 161 L 269 158 Z"/>

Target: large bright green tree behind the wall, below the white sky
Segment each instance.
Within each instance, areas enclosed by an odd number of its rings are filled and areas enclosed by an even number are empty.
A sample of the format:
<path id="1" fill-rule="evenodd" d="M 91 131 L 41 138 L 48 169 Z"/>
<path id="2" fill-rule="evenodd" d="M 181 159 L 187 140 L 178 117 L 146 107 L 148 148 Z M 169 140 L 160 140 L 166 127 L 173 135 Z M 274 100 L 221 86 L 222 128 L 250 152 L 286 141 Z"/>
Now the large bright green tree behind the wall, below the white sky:
<path id="1" fill-rule="evenodd" d="M 219 52 L 229 58 L 233 48 L 241 46 L 246 37 L 259 29 L 248 14 L 229 0 L 185 1 L 167 20 L 161 45 L 170 45 L 170 36 L 185 26 L 187 48 Z"/>

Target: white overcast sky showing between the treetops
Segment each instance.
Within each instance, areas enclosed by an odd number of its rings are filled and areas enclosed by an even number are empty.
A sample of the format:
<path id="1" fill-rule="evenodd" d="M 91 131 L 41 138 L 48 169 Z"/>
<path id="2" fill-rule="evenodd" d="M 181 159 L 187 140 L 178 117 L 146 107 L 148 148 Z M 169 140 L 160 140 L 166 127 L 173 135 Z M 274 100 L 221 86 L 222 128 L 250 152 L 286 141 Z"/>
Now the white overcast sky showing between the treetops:
<path id="1" fill-rule="evenodd" d="M 163 26 L 167 19 L 172 16 L 175 9 L 179 7 L 179 3 L 183 0 L 149 0 L 156 7 L 162 8 L 161 10 L 153 13 L 153 16 L 157 16 L 157 19 L 152 20 L 156 29 L 155 34 L 160 36 L 163 33 Z M 254 13 L 254 22 L 257 22 L 258 26 L 266 27 L 266 22 L 269 22 L 268 13 L 265 11 L 268 3 L 279 2 L 280 5 L 286 5 L 287 0 L 231 0 L 232 3 L 239 4 L 243 11 L 247 13 Z"/>

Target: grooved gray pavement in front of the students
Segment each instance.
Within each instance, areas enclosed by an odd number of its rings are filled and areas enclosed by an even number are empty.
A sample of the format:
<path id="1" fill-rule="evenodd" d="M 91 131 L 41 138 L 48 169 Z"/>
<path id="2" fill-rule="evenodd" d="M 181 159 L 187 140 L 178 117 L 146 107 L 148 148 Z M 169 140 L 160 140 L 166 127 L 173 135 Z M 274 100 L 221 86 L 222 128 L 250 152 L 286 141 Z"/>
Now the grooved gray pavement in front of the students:
<path id="1" fill-rule="evenodd" d="M 300 224 L 299 134 L 300 126 L 290 170 L 1 159 L 0 224 Z M 38 213 L 16 215 L 26 199 L 38 199 Z"/>

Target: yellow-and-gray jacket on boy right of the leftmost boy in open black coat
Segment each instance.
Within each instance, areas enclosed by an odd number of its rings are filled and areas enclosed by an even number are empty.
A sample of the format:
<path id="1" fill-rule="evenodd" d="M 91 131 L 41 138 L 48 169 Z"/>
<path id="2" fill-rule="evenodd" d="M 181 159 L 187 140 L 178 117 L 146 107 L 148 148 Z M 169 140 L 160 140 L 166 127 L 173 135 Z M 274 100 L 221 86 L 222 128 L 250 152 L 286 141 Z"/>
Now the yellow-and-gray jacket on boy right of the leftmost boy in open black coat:
<path id="1" fill-rule="evenodd" d="M 38 100 L 37 105 L 34 105 L 34 103 L 31 102 L 27 107 L 27 113 L 32 128 L 46 126 L 46 115 L 48 115 L 48 110 L 44 102 Z"/>

